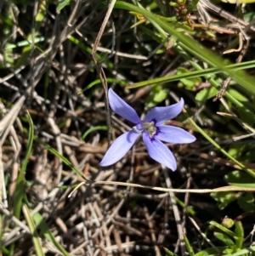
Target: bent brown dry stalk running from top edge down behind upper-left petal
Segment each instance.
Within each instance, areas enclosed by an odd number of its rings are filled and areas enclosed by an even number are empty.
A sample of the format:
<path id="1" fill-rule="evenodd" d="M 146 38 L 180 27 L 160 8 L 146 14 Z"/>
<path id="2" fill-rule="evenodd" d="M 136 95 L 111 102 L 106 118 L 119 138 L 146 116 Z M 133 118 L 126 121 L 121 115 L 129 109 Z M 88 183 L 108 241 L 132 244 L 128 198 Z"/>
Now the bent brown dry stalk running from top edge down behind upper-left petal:
<path id="1" fill-rule="evenodd" d="M 108 85 L 107 85 L 107 81 L 106 81 L 106 77 L 105 77 L 105 72 L 102 69 L 101 65 L 99 64 L 99 60 L 97 59 L 96 52 L 97 52 L 97 48 L 99 46 L 100 39 L 105 31 L 105 26 L 106 26 L 108 20 L 110 19 L 111 12 L 112 12 L 112 9 L 114 8 L 115 3 L 116 3 L 116 0 L 113 0 L 110 3 L 109 9 L 107 10 L 107 13 L 105 15 L 105 20 L 103 21 L 103 24 L 100 27 L 98 36 L 96 37 L 94 46 L 92 48 L 92 56 L 93 56 L 94 64 L 95 64 L 96 70 L 99 74 L 99 79 L 102 82 L 103 88 L 105 90 L 105 112 L 106 112 L 106 117 L 107 117 L 106 122 L 107 122 L 107 128 L 108 128 L 108 145 L 110 145 L 110 143 L 111 143 L 111 132 L 110 132 L 111 117 L 110 117 L 110 108 L 109 108 L 109 100 L 108 100 Z"/>

